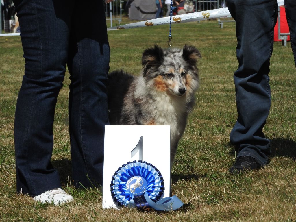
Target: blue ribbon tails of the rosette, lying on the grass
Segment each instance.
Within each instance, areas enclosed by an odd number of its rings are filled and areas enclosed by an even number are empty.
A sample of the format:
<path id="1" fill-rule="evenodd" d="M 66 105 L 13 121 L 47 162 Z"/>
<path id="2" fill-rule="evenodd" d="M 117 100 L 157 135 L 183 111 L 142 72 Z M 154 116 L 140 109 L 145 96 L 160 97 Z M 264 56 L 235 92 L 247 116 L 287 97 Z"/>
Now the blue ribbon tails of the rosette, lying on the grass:
<path id="1" fill-rule="evenodd" d="M 184 205 L 184 203 L 177 197 L 165 197 L 157 202 L 150 199 L 148 194 L 136 196 L 133 198 L 134 204 L 140 209 L 149 211 L 152 208 L 160 211 L 177 210 Z"/>

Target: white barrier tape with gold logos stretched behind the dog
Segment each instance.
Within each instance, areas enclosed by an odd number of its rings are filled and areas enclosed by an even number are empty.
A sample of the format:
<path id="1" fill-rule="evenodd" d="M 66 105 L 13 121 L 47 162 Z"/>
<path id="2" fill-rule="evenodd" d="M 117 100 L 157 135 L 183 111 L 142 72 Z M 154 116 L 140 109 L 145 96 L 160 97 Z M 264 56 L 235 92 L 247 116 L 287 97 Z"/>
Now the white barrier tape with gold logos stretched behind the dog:
<path id="1" fill-rule="evenodd" d="M 284 0 L 278 0 L 278 6 L 284 5 Z M 183 15 L 174 15 L 172 16 L 172 23 L 185 23 L 185 22 L 192 22 L 192 21 L 200 21 L 206 19 L 214 19 L 220 17 L 230 16 L 228 8 L 221 8 L 221 9 L 212 9 L 203 12 L 193 12 Z M 152 19 L 147 21 L 135 22 L 126 25 L 120 25 L 116 27 L 107 28 L 108 31 L 110 30 L 119 30 L 119 29 L 129 29 L 129 28 L 139 28 L 145 26 L 154 26 L 154 25 L 163 25 L 170 23 L 170 17 Z"/>

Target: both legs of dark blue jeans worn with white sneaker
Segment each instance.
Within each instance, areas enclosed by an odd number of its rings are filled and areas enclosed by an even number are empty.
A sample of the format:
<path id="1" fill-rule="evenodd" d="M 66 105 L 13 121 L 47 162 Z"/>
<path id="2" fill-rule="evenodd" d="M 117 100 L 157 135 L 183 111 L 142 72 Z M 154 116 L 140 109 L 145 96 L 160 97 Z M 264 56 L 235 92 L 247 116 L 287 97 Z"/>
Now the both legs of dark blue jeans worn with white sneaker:
<path id="1" fill-rule="evenodd" d="M 74 185 L 102 184 L 110 48 L 103 1 L 15 0 L 25 75 L 15 112 L 17 192 L 61 187 L 51 164 L 57 96 L 70 72 Z"/>

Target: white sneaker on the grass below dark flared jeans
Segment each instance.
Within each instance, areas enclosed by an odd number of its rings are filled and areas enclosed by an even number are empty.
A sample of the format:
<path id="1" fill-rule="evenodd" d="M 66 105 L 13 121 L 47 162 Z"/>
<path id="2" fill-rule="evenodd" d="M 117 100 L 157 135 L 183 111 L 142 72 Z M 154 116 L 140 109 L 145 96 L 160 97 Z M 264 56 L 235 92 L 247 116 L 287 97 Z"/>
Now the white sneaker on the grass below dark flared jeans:
<path id="1" fill-rule="evenodd" d="M 61 188 L 56 188 L 33 197 L 33 200 L 42 204 L 53 203 L 54 205 L 60 205 L 66 202 L 72 202 L 74 201 L 74 198 L 63 191 Z"/>

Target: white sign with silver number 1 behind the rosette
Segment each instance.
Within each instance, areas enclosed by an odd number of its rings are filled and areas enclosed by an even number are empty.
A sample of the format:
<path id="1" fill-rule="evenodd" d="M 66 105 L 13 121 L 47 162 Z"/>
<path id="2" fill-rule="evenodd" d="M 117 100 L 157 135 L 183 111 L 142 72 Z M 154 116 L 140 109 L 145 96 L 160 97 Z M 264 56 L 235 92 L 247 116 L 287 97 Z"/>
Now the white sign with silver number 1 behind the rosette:
<path id="1" fill-rule="evenodd" d="M 141 137 L 142 150 L 138 145 Z M 118 207 L 110 192 L 112 176 L 133 160 L 151 163 L 160 171 L 165 184 L 163 197 L 169 197 L 170 126 L 105 126 L 103 208 Z"/>

